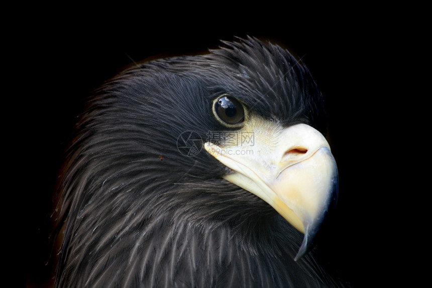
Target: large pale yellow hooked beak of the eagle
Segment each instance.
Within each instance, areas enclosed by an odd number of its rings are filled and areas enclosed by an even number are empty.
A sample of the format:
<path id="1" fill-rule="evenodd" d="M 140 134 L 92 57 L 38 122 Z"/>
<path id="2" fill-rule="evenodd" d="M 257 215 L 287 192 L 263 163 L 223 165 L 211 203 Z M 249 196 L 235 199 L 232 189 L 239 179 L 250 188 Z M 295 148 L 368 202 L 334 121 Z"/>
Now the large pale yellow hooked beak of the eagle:
<path id="1" fill-rule="evenodd" d="M 304 234 L 297 260 L 313 246 L 329 207 L 336 202 L 338 171 L 329 143 L 305 124 L 245 129 L 239 133 L 253 135 L 253 141 L 248 138 L 247 143 L 225 146 L 206 142 L 204 147 L 233 170 L 224 175 L 226 180 L 266 201 Z"/>

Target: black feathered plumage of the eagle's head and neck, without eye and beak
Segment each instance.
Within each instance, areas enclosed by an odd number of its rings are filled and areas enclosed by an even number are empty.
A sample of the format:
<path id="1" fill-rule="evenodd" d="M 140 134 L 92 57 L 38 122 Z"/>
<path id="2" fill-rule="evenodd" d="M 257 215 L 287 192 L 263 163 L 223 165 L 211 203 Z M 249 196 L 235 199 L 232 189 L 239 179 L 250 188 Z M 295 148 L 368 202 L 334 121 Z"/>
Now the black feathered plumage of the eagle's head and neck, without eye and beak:
<path id="1" fill-rule="evenodd" d="M 225 45 L 131 66 L 89 99 L 57 199 L 58 286 L 342 285 L 312 255 L 294 262 L 302 235 L 222 179 L 226 168 L 201 146 L 194 156 L 177 149 L 185 131 L 204 141 L 222 130 L 211 112 L 221 92 L 284 126 L 325 131 L 321 95 L 301 62 L 255 39 Z"/>

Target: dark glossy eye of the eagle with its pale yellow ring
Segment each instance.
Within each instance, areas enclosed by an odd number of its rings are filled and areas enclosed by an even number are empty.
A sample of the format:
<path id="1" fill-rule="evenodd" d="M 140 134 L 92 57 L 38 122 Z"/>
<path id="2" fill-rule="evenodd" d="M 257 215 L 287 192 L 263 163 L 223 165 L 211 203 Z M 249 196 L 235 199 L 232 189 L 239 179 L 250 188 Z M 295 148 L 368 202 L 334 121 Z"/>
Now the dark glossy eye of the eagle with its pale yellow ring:
<path id="1" fill-rule="evenodd" d="M 214 101 L 213 113 L 224 125 L 238 126 L 245 120 L 245 109 L 237 99 L 223 94 Z"/>

